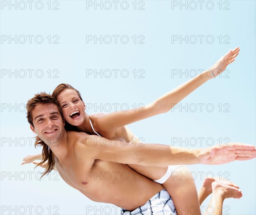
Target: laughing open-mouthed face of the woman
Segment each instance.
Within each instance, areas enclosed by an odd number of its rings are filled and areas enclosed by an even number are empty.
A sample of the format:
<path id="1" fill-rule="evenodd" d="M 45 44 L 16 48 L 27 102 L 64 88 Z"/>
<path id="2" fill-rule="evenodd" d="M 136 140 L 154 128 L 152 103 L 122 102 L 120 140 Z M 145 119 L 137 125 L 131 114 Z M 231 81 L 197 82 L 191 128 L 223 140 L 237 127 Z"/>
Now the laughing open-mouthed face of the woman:
<path id="1" fill-rule="evenodd" d="M 58 103 L 61 105 L 64 119 L 74 126 L 79 126 L 85 119 L 85 105 L 81 101 L 77 92 L 72 89 L 63 90 L 57 97 Z"/>

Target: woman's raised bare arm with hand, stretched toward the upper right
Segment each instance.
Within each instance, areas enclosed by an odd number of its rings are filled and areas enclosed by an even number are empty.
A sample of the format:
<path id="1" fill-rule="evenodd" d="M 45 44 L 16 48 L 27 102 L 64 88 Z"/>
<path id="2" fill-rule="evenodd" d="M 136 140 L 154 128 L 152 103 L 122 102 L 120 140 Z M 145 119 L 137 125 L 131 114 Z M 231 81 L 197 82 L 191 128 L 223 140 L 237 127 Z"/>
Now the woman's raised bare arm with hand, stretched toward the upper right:
<path id="1" fill-rule="evenodd" d="M 239 51 L 239 47 L 233 49 L 231 52 L 222 56 L 211 67 L 215 77 L 222 73 L 226 69 L 227 65 L 235 60 Z M 110 128 L 115 131 L 116 128 L 120 126 L 128 125 L 160 113 L 166 113 L 211 78 L 213 78 L 211 71 L 206 70 L 202 74 L 198 74 L 195 78 L 186 81 L 175 89 L 159 97 L 154 102 L 145 105 L 143 108 L 130 109 L 127 112 L 118 111 L 98 117 L 96 122 L 97 127 L 102 131 L 109 130 Z"/>

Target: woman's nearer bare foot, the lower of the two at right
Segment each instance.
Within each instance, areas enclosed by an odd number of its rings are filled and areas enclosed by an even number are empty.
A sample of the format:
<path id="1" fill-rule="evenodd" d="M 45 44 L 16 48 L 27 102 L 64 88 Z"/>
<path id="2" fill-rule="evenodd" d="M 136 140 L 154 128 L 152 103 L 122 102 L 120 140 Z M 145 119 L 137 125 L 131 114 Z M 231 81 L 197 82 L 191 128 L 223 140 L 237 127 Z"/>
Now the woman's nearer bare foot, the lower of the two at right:
<path id="1" fill-rule="evenodd" d="M 212 182 L 212 194 L 223 198 L 241 198 L 242 192 L 234 186 L 228 186 L 219 182 Z"/>

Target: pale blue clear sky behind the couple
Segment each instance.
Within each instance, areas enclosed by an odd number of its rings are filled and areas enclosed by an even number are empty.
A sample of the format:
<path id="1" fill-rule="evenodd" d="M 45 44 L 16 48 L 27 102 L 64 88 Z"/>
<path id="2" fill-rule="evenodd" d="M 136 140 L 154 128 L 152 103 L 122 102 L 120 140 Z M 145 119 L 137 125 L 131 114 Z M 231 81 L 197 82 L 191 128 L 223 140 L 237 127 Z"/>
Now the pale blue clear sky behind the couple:
<path id="1" fill-rule="evenodd" d="M 61 215 L 109 214 L 109 209 L 111 214 L 116 212 L 112 205 L 87 199 L 54 173 L 51 179 L 45 177 L 39 181 L 36 172 L 42 169 L 38 168 L 30 173 L 29 180 L 28 172 L 34 166 L 20 166 L 23 157 L 40 152 L 40 148 L 33 147 L 33 141 L 29 142 L 28 138 L 34 135 L 26 121 L 24 104 L 35 93 L 52 93 L 60 83 L 69 83 L 81 92 L 88 113 L 94 113 L 95 108 L 96 112 L 112 112 L 115 107 L 124 110 L 154 101 L 192 78 L 193 71 L 208 69 L 230 48 L 239 46 L 240 54 L 224 76 L 205 83 L 175 110 L 129 128 L 145 142 L 183 147 L 190 143 L 187 147 L 200 148 L 210 145 L 212 139 L 215 144 L 221 139 L 255 145 L 255 1 L 205 1 L 201 9 L 198 1 L 182 1 L 187 9 L 185 6 L 180 9 L 180 1 L 137 1 L 136 4 L 128 1 L 128 5 L 120 1 L 122 7 L 117 4 L 116 10 L 113 1 L 109 1 L 112 5 L 109 10 L 110 5 L 104 2 L 102 9 L 99 6 L 94 9 L 90 6 L 94 1 L 43 1 L 41 10 L 40 3 L 32 3 L 30 10 L 29 3 L 24 2 L 25 9 L 22 10 L 24 3 L 17 1 L 15 10 L 15 6 L 11 9 L 5 6 L 9 1 L 1 1 L 0 10 L 3 214 L 8 212 L 4 206 L 15 208 L 15 205 L 20 213 L 25 206 L 26 214 L 29 206 L 34 206 L 35 214 L 42 208 L 42 214 L 49 214 L 50 209 L 51 214 Z M 176 3 L 179 5 L 175 6 Z M 53 10 L 54 7 L 58 10 Z M 138 10 L 139 7 L 144 10 Z M 10 35 L 12 38 L 17 35 L 17 44 L 15 40 L 9 41 Z M 102 35 L 102 44 L 88 41 L 87 35 L 98 38 Z M 186 35 L 187 44 L 186 40 L 180 41 Z M 21 44 L 24 38 L 26 43 Z M 44 41 L 38 44 L 35 38 L 38 43 L 41 38 Z M 107 44 L 109 38 L 112 42 Z M 96 77 L 94 70 L 98 72 Z M 182 74 L 175 73 L 180 70 Z M 187 111 L 182 108 L 186 105 Z M 214 110 L 210 112 L 212 107 Z M 256 214 L 255 159 L 221 166 L 193 165 L 189 169 L 197 176 L 198 189 L 202 184 L 200 177 L 211 177 L 211 174 L 227 177 L 240 186 L 243 198 L 225 200 L 223 214 Z M 11 174 L 17 178 L 9 179 Z M 208 202 L 209 198 L 204 206 Z"/>

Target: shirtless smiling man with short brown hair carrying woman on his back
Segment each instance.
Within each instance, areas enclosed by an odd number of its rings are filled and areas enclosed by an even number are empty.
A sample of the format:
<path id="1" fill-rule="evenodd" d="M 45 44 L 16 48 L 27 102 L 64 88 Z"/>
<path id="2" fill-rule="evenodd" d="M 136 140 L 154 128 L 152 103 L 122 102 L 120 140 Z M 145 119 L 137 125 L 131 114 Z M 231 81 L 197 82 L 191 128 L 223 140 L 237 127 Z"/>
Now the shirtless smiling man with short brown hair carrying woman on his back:
<path id="1" fill-rule="evenodd" d="M 40 163 L 48 161 L 44 174 L 55 168 L 66 183 L 91 200 L 115 204 L 123 208 L 123 212 L 136 209 L 151 214 L 162 214 L 163 211 L 176 214 L 172 199 L 166 195 L 163 186 L 143 177 L 126 163 L 142 166 L 223 164 L 249 160 L 256 155 L 253 145 L 241 143 L 204 149 L 160 144 L 122 145 L 83 132 L 65 131 L 62 110 L 46 93 L 37 94 L 28 101 L 27 118 L 30 128 L 40 138 L 35 145 L 44 146 Z M 102 180 L 94 177 L 102 174 L 105 174 Z M 164 196 L 165 204 L 151 202 L 152 196 L 154 201 Z"/>

